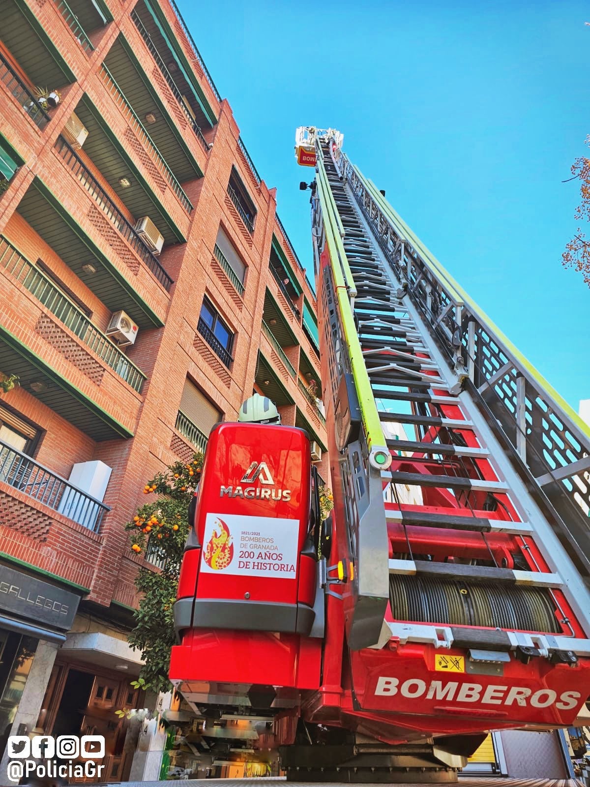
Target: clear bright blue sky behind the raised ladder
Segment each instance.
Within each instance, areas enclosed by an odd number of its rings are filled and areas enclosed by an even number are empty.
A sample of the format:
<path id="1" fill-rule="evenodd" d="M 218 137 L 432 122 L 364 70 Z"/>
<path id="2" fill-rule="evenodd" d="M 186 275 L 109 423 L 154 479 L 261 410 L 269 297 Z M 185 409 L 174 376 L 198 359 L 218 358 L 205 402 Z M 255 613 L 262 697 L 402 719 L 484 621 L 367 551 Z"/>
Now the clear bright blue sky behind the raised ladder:
<path id="1" fill-rule="evenodd" d="M 584 2 L 194 3 L 179 7 L 312 270 L 299 125 L 345 151 L 577 410 L 590 397 L 590 289 L 566 271 L 590 151 Z"/>

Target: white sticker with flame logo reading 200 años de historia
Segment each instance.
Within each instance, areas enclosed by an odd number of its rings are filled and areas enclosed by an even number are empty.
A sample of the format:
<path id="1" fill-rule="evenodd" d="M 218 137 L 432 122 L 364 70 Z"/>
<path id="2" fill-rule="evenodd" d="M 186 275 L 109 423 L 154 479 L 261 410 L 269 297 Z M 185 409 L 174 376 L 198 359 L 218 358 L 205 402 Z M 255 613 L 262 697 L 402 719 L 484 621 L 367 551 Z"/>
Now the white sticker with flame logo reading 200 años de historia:
<path id="1" fill-rule="evenodd" d="M 201 571 L 249 577 L 295 579 L 298 519 L 208 514 Z"/>

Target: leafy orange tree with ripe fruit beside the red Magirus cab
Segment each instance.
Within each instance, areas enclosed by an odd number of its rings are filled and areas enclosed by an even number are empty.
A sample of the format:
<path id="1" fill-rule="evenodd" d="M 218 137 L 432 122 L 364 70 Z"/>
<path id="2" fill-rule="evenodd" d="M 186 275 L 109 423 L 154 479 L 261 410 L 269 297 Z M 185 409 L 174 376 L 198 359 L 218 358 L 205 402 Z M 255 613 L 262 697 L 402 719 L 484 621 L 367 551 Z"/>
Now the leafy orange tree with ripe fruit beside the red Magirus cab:
<path id="1" fill-rule="evenodd" d="M 129 644 L 142 652 L 142 688 L 168 691 L 168 665 L 174 645 L 172 604 L 176 599 L 180 563 L 189 530 L 188 507 L 199 478 L 203 454 L 190 462 L 175 462 L 146 483 L 149 498 L 128 522 L 131 550 L 147 556 L 156 567 L 140 567 L 135 586 L 142 593 L 135 611 Z M 159 570 L 158 568 L 159 567 Z"/>

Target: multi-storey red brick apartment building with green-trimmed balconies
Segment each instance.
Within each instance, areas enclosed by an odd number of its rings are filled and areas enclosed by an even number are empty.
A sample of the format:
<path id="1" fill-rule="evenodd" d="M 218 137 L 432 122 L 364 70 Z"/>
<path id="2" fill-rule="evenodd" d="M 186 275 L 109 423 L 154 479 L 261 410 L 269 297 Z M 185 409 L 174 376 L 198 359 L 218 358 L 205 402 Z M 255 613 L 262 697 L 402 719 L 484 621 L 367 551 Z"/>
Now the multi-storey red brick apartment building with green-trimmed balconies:
<path id="1" fill-rule="evenodd" d="M 109 719 L 119 781 L 124 523 L 253 390 L 327 478 L 315 295 L 173 0 L 0 7 L 0 748 Z"/>

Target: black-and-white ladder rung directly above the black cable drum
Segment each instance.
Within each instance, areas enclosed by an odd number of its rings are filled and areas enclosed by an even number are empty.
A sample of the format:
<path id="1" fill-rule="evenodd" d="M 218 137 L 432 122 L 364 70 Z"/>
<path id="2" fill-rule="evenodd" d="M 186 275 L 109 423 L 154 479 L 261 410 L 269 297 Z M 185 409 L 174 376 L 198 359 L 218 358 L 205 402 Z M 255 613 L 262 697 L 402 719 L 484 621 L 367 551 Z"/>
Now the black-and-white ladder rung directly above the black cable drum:
<path id="1" fill-rule="evenodd" d="M 508 585 L 560 587 L 557 574 L 541 571 L 514 571 L 495 566 L 470 566 L 466 563 L 434 563 L 430 560 L 389 560 L 389 574 L 428 575 L 438 579 L 466 579 L 471 582 L 503 582 Z"/>

